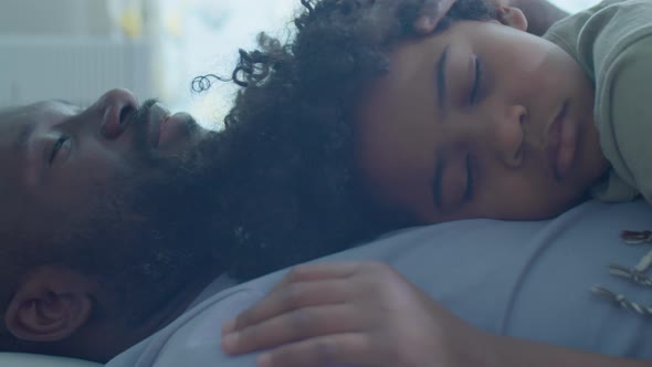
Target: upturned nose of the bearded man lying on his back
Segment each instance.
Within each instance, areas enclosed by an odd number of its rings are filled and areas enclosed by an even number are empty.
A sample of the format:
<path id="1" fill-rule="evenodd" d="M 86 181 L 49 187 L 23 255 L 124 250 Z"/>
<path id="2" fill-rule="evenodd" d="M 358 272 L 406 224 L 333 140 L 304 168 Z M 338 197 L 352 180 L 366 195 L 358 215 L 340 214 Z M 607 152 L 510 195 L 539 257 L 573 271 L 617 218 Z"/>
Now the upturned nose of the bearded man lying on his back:
<path id="1" fill-rule="evenodd" d="M 115 139 L 127 128 L 129 115 L 138 109 L 138 99 L 130 91 L 112 90 L 101 96 L 94 107 L 102 114 L 102 136 Z"/>

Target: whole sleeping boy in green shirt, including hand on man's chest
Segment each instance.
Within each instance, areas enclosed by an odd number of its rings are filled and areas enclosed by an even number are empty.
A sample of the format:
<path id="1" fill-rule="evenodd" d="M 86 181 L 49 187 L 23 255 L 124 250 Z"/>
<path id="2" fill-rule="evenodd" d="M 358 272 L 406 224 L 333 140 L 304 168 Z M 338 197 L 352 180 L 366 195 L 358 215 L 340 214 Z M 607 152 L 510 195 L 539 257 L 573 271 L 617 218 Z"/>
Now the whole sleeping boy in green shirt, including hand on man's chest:
<path id="1" fill-rule="evenodd" d="M 338 112 L 334 129 L 354 122 L 355 165 L 380 207 L 418 222 L 440 222 L 547 218 L 588 192 L 607 201 L 639 195 L 652 201 L 652 148 L 646 144 L 652 136 L 652 2 L 608 0 L 556 23 L 543 39 L 523 32 L 527 20 L 520 10 L 492 9 L 483 1 L 459 0 L 430 38 L 411 35 L 406 31 L 410 22 L 400 19 L 374 30 L 369 24 L 386 19 L 361 8 L 357 1 L 308 6 L 286 59 L 296 69 L 275 67 L 283 77 L 287 70 L 296 72 L 291 81 L 303 93 L 291 95 L 302 97 L 293 101 L 302 105 L 302 118 L 309 117 L 306 105 L 313 104 Z M 413 19 L 413 13 L 407 9 L 401 15 Z M 322 69 L 316 66 L 320 61 Z M 270 76 L 267 85 L 275 81 Z M 360 298 L 327 286 L 343 279 L 361 279 L 359 292 L 378 282 L 400 290 L 379 292 L 379 305 L 404 301 L 379 310 L 422 317 L 412 328 L 419 332 L 407 335 L 417 338 L 392 338 L 392 328 L 381 324 L 396 319 L 368 308 L 358 310 L 360 325 L 376 315 L 378 327 L 336 329 Z M 393 331 L 404 331 L 399 326 Z M 428 327 L 431 334 L 421 333 Z M 401 355 L 403 347 L 402 356 L 410 357 L 417 354 L 404 352 L 420 346 L 432 349 L 421 350 L 423 359 L 403 361 L 646 366 L 519 340 L 495 344 L 376 265 L 305 266 L 224 332 L 223 347 L 230 353 L 290 343 L 262 357 L 261 366 L 391 366 L 397 361 L 383 360 L 383 353 L 399 349 Z M 389 338 L 374 344 L 381 333 Z M 437 343 L 421 343 L 429 335 Z"/>

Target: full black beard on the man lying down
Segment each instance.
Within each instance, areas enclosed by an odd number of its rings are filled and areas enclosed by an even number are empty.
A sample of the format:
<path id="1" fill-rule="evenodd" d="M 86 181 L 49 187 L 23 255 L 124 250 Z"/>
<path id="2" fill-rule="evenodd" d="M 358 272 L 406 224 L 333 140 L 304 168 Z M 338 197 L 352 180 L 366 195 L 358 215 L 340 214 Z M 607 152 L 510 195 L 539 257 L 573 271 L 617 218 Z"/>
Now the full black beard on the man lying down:
<path id="1" fill-rule="evenodd" d="M 221 244 L 210 226 L 220 159 L 203 156 L 214 150 L 217 136 L 186 157 L 158 159 L 154 175 L 108 186 L 97 199 L 96 216 L 72 235 L 70 229 L 62 231 L 45 259 L 96 279 L 118 297 L 132 325 L 146 322 L 198 276 L 220 274 Z"/>

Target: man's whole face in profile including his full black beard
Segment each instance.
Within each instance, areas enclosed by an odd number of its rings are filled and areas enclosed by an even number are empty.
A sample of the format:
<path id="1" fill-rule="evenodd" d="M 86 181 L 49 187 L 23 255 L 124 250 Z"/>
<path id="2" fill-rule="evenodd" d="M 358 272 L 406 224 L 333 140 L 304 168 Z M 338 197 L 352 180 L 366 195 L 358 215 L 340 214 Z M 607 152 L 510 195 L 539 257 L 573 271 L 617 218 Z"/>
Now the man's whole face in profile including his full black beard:
<path id="1" fill-rule="evenodd" d="M 209 262 L 201 218 L 215 159 L 201 151 L 215 136 L 123 90 L 86 109 L 50 101 L 0 112 L 0 274 L 55 263 L 116 294 L 165 300 Z"/>

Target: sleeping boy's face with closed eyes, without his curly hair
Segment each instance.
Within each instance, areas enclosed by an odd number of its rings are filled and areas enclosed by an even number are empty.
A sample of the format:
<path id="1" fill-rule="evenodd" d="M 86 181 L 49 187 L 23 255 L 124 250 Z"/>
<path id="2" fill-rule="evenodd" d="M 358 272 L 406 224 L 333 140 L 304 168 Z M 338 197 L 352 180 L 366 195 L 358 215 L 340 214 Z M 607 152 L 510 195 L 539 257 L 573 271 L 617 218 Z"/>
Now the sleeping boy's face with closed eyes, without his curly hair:
<path id="1" fill-rule="evenodd" d="M 419 221 L 544 219 L 608 168 L 592 108 L 558 46 L 461 21 L 391 53 L 358 111 L 357 162 L 379 203 Z"/>

